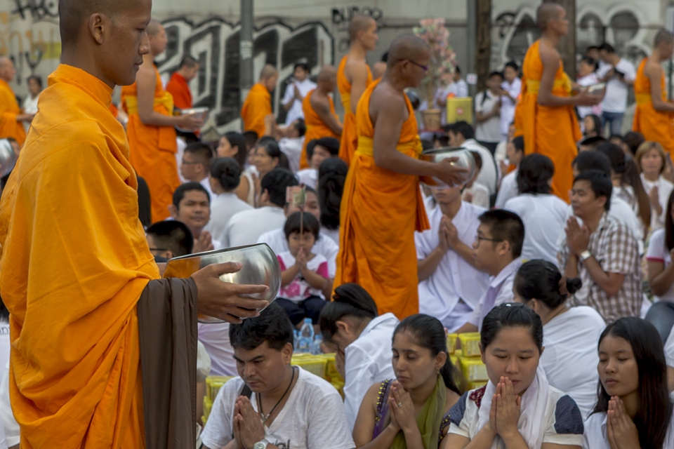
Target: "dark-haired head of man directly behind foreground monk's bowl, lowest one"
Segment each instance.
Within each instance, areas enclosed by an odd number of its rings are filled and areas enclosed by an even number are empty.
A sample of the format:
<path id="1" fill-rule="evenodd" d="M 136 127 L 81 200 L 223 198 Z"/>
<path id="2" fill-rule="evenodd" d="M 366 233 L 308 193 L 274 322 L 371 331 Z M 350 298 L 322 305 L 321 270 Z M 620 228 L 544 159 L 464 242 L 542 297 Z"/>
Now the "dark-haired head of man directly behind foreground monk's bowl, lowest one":
<path id="1" fill-rule="evenodd" d="M 192 254 L 194 248 L 192 231 L 178 220 L 154 223 L 145 231 L 145 238 L 147 246 L 150 246 L 150 253 L 154 257 L 164 257 L 166 260 Z"/>

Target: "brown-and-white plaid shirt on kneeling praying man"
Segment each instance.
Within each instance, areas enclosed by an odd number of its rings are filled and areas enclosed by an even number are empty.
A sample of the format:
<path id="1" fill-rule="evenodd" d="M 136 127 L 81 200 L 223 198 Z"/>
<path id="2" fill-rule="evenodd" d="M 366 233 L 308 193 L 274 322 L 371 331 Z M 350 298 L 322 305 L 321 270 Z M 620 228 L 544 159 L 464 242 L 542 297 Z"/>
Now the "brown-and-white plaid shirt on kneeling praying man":
<path id="1" fill-rule="evenodd" d="M 578 274 L 583 287 L 571 298 L 575 306 L 588 305 L 598 311 L 607 323 L 623 316 L 639 316 L 642 304 L 641 272 L 638 244 L 630 229 L 614 217 L 604 213 L 595 232 L 590 234 L 588 250 L 607 273 L 625 275 L 618 293 L 607 295 L 590 276 L 579 259 Z M 569 246 L 564 236 L 557 254 L 562 273 L 569 260 Z"/>

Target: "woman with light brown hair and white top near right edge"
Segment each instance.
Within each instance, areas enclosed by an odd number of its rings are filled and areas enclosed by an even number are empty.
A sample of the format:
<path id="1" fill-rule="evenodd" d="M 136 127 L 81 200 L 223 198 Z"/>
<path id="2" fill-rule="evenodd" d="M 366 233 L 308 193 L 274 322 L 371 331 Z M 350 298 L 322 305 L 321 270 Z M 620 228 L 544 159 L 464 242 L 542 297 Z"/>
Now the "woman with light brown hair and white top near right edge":
<path id="1" fill-rule="evenodd" d="M 666 167 L 665 151 L 658 142 L 644 142 L 634 156 L 641 169 L 641 181 L 651 203 L 651 230 L 665 225 L 665 205 L 674 184 L 662 177 Z"/>

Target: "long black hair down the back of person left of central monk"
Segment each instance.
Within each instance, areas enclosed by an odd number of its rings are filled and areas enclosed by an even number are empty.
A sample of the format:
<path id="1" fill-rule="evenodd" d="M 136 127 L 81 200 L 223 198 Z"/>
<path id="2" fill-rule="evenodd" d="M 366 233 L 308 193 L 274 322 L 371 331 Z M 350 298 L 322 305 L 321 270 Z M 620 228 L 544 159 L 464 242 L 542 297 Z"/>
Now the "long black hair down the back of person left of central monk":
<path id="1" fill-rule="evenodd" d="M 318 169 L 318 202 L 321 205 L 321 225 L 326 229 L 339 227 L 339 210 L 349 167 L 337 157 L 329 157 Z"/>

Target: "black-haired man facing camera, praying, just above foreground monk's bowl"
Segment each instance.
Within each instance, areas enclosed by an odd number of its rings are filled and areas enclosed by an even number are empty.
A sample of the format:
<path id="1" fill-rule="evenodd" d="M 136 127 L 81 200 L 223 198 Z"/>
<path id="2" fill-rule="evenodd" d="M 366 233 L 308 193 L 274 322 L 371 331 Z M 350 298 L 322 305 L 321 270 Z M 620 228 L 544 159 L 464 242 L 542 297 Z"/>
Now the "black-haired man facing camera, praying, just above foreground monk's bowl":
<path id="1" fill-rule="evenodd" d="M 173 192 L 173 204 L 169 206 L 171 218 L 185 223 L 194 237 L 192 253 L 219 250 L 220 241 L 213 239 L 204 229 L 211 221 L 211 196 L 199 182 L 185 182 Z"/>

